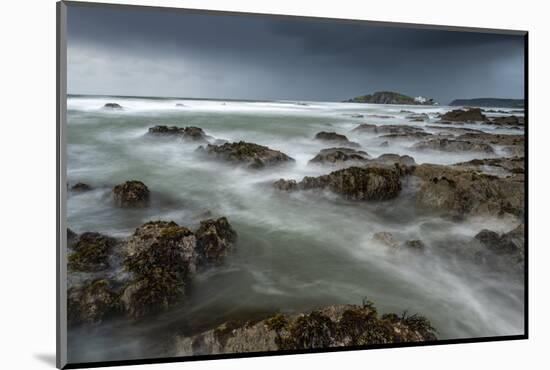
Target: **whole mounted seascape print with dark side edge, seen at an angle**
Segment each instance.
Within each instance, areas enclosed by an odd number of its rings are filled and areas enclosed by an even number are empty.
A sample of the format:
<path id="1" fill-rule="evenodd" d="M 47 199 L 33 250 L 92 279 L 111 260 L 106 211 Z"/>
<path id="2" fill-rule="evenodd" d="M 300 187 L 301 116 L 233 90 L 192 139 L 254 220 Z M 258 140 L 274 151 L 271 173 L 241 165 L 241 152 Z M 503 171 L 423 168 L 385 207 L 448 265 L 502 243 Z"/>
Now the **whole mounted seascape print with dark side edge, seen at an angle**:
<path id="1" fill-rule="evenodd" d="M 527 338 L 526 53 L 58 3 L 58 366 Z"/>

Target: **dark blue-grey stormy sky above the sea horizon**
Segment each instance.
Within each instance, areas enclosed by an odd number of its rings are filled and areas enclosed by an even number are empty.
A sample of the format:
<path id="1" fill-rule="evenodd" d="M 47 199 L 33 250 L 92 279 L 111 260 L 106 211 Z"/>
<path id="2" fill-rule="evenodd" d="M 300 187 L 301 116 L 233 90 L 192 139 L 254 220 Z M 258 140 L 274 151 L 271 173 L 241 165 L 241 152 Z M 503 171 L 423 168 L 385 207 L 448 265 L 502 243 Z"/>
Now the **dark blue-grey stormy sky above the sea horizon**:
<path id="1" fill-rule="evenodd" d="M 522 36 L 71 5 L 67 38 L 70 94 L 523 98 Z"/>

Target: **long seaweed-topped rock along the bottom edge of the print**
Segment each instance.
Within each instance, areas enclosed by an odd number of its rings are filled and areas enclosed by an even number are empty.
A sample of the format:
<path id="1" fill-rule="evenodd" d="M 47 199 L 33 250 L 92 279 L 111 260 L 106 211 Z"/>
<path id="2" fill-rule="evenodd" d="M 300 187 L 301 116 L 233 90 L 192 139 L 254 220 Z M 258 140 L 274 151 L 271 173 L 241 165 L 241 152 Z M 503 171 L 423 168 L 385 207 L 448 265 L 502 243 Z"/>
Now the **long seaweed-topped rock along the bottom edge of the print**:
<path id="1" fill-rule="evenodd" d="M 436 340 L 419 315 L 378 315 L 371 303 L 333 305 L 308 313 L 276 314 L 258 322 L 226 322 L 192 337 L 176 337 L 174 355 L 323 349 Z"/>

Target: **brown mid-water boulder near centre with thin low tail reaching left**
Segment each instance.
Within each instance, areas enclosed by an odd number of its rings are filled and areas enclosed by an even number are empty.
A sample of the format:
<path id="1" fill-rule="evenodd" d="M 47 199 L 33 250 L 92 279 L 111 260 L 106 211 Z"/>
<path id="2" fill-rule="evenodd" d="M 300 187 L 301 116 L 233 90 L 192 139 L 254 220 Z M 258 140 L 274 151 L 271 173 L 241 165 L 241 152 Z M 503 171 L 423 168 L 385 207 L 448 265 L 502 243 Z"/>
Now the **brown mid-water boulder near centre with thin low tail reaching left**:
<path id="1" fill-rule="evenodd" d="M 387 200 L 401 191 L 395 169 L 383 167 L 349 167 L 319 177 L 304 177 L 300 182 L 281 179 L 274 183 L 279 190 L 326 189 L 349 200 Z"/>

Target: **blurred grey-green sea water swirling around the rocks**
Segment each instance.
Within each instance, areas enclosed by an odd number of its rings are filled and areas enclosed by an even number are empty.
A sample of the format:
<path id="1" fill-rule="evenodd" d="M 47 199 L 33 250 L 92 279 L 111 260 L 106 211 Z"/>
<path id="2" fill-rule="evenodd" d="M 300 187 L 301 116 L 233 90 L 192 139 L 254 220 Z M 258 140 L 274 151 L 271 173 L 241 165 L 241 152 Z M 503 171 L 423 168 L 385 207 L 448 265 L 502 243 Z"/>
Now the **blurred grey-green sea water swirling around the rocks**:
<path id="1" fill-rule="evenodd" d="M 101 107 L 117 102 L 122 111 Z M 176 104 L 183 107 L 176 107 Z M 350 132 L 360 123 L 434 125 L 449 107 L 381 106 L 352 103 L 240 102 L 121 97 L 68 100 L 69 184 L 85 182 L 91 192 L 71 193 L 68 224 L 77 233 L 128 236 L 143 222 L 173 220 L 196 227 L 205 211 L 227 216 L 239 234 L 224 266 L 199 274 L 186 302 L 142 320 L 118 319 L 69 333 L 70 361 L 150 358 L 169 354 L 175 333 L 195 333 L 235 317 L 295 312 L 335 303 L 359 304 L 364 297 L 382 312 L 418 312 L 440 338 L 523 333 L 523 284 L 502 279 L 445 253 L 449 241 L 467 240 L 483 228 L 508 231 L 498 219 L 452 222 L 415 209 L 415 184 L 399 198 L 352 203 L 330 195 L 280 194 L 269 183 L 330 172 L 307 162 L 327 145 L 312 140 L 336 131 L 372 156 L 409 154 L 417 163 L 451 164 L 479 153 L 433 153 Z M 402 110 L 425 112 L 429 123 L 411 123 Z M 352 115 L 361 114 L 362 118 Z M 387 115 L 379 118 L 370 115 Z M 197 156 L 197 144 L 144 136 L 153 125 L 198 126 L 229 141 L 245 140 L 281 150 L 291 166 L 247 171 Z M 498 133 L 521 133 L 488 125 L 464 125 Z M 428 131 L 433 129 L 428 129 Z M 498 149 L 498 148 L 497 148 Z M 137 179 L 152 191 L 147 209 L 117 209 L 114 185 Z M 391 253 L 372 242 L 389 231 L 402 240 L 421 239 L 423 255 Z"/>

